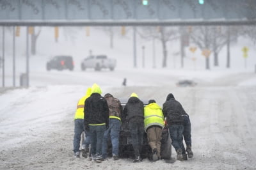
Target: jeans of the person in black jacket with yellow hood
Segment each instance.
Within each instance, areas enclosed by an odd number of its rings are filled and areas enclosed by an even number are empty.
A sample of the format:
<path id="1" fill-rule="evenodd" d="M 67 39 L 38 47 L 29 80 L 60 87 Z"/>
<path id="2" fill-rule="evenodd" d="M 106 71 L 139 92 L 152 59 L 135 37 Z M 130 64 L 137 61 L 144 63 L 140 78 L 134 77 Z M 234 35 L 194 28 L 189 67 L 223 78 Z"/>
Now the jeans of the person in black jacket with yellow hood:
<path id="1" fill-rule="evenodd" d="M 102 139 L 106 125 L 89 125 L 89 128 L 92 157 L 102 157 Z"/>

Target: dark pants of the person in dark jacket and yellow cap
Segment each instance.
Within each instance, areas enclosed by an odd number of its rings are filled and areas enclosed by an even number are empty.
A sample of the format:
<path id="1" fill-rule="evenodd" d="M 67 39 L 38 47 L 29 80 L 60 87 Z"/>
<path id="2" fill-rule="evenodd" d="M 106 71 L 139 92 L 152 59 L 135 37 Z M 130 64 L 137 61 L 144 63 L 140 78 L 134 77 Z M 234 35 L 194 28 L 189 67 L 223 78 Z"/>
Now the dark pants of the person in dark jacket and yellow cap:
<path id="1" fill-rule="evenodd" d="M 143 121 L 129 121 L 129 129 L 131 132 L 132 146 L 134 149 L 134 155 L 140 156 L 140 152 L 143 145 L 144 135 L 144 122 Z"/>

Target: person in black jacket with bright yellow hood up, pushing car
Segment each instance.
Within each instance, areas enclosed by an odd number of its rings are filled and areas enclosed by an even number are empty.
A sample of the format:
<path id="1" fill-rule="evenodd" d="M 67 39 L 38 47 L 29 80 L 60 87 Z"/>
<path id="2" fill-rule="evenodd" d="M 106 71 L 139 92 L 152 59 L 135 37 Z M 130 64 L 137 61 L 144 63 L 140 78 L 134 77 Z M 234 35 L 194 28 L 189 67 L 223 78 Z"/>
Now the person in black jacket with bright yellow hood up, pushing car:
<path id="1" fill-rule="evenodd" d="M 101 93 L 99 85 L 93 84 L 92 95 L 84 104 L 84 127 L 89 132 L 92 159 L 96 162 L 102 162 L 102 139 L 109 126 L 108 103 Z"/>

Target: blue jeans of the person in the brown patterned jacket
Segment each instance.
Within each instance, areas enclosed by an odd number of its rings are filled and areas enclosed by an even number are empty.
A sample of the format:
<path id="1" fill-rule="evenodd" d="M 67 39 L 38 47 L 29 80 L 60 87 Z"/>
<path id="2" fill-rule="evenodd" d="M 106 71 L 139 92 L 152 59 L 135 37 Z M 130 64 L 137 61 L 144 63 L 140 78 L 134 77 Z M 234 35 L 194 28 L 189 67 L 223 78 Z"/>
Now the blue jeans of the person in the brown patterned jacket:
<path id="1" fill-rule="evenodd" d="M 109 128 L 104 132 L 102 142 L 102 157 L 108 157 L 108 139 L 110 135 L 112 143 L 112 154 L 118 156 L 119 147 L 119 133 L 121 128 L 121 121 L 115 118 L 109 119 Z"/>

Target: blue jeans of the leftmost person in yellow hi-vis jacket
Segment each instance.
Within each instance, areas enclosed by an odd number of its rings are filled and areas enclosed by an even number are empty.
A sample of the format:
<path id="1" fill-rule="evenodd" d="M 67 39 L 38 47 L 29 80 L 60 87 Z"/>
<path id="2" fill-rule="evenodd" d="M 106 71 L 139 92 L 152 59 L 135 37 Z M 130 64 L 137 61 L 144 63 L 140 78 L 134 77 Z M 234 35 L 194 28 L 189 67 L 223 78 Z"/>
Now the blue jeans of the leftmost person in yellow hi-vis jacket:
<path id="1" fill-rule="evenodd" d="M 81 134 L 83 133 L 83 131 L 84 131 L 84 120 L 76 119 L 75 128 L 74 128 L 74 142 L 73 142 L 74 153 L 80 151 Z M 83 145 L 85 145 L 85 143 L 83 143 Z"/>

